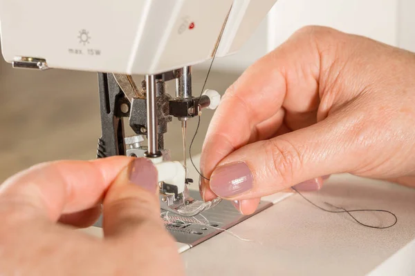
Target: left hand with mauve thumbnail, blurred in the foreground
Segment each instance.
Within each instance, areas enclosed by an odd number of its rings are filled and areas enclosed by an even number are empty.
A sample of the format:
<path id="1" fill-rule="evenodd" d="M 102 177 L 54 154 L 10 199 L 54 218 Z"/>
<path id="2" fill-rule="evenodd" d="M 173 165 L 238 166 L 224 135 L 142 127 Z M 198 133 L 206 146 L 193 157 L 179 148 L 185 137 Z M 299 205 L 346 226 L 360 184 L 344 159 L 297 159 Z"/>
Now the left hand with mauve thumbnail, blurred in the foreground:
<path id="1" fill-rule="evenodd" d="M 147 159 L 41 164 L 0 186 L 0 275 L 183 275 Z M 76 231 L 100 215 L 104 239 Z M 60 223 L 59 223 L 59 222 Z"/>

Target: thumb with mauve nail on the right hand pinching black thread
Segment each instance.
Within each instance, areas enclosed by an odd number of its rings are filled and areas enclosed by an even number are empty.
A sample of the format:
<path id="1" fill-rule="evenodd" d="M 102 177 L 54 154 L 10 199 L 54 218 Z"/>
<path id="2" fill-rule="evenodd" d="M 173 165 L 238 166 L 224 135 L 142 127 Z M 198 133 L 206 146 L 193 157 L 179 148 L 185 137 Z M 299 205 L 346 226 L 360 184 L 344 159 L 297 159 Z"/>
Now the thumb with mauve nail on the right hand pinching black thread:
<path id="1" fill-rule="evenodd" d="M 235 150 L 212 172 L 210 189 L 225 199 L 252 199 L 350 170 L 358 148 L 344 135 L 353 122 L 340 117 Z"/>

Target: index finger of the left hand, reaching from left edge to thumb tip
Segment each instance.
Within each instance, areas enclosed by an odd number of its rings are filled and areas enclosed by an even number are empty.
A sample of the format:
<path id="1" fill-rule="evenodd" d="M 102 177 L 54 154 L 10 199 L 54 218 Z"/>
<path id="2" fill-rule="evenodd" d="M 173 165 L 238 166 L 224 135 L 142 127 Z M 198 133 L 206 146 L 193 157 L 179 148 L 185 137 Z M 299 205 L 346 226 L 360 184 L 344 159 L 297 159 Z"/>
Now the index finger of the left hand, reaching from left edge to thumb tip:
<path id="1" fill-rule="evenodd" d="M 63 214 L 87 210 L 100 202 L 113 179 L 131 160 L 110 157 L 39 164 L 0 186 L 2 210 L 30 210 L 52 221 Z"/>

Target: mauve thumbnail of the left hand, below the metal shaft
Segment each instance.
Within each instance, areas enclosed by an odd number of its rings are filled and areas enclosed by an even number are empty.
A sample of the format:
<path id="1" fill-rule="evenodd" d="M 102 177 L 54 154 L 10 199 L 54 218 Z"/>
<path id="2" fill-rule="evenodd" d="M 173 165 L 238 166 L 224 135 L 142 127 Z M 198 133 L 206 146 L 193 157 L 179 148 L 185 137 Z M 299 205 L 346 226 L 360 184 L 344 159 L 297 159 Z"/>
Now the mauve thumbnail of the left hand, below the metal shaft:
<path id="1" fill-rule="evenodd" d="M 157 169 L 151 160 L 140 157 L 131 162 L 129 168 L 129 181 L 136 184 L 151 193 L 156 192 Z"/>

